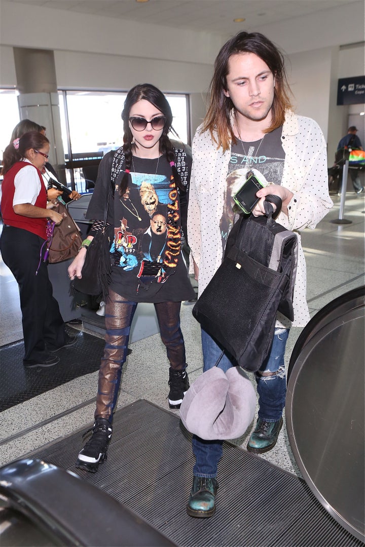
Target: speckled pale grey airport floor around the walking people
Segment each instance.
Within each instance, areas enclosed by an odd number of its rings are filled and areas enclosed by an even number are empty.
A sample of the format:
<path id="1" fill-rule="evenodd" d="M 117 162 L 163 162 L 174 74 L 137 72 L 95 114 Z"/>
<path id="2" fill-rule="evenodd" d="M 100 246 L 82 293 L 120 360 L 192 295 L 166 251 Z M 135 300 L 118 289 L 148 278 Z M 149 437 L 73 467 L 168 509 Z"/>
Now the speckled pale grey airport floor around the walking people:
<path id="1" fill-rule="evenodd" d="M 351 224 L 331 222 L 339 218 L 340 210 L 340 198 L 333 196 L 332 211 L 316 230 L 306 230 L 302 234 L 308 266 L 307 296 L 311 316 L 337 296 L 364 283 L 363 195 L 356 196 L 352 191 L 346 194 L 343 218 L 351 220 Z M 21 339 L 22 330 L 18 287 L 1 261 L 0 290 L 0 345 L 4 345 Z M 200 330 L 192 317 L 192 305 L 182 306 L 181 322 L 192 382 L 202 371 Z M 301 330 L 291 330 L 286 365 Z M 168 364 L 159 335 L 134 342 L 131 348 L 132 354 L 124 366 L 119 405 L 143 398 L 168 409 Z M 19 366 L 22 364 L 19 363 Z M 89 424 L 93 419 L 96 385 L 97 373 L 89 374 L 2 412 L 0 465 Z M 246 434 L 235 440 L 236 444 L 246 446 L 255 422 L 256 419 Z M 275 448 L 260 457 L 300 475 L 285 427 Z"/>

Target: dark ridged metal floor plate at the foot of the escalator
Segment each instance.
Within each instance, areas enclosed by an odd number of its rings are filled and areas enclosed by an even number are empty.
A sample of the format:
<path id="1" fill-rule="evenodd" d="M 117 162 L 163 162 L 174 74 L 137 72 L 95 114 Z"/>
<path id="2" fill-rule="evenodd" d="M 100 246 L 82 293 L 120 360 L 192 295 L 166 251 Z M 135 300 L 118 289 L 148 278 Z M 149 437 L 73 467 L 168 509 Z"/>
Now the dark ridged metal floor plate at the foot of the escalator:
<path id="1" fill-rule="evenodd" d="M 108 459 L 96 474 L 75 467 L 85 443 L 83 431 L 28 456 L 77 473 L 181 547 L 363 545 L 327 513 L 302 479 L 227 442 L 219 464 L 215 516 L 189 517 L 192 435 L 177 413 L 146 400 L 115 412 Z"/>

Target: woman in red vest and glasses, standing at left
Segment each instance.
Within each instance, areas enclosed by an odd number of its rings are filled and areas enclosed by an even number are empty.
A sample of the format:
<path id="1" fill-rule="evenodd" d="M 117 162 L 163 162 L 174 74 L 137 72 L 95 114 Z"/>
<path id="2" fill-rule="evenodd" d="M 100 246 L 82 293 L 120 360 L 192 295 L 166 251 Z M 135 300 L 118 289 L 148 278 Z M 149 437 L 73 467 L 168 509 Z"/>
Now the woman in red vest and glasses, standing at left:
<path id="1" fill-rule="evenodd" d="M 48 154 L 49 141 L 37 131 L 14 139 L 3 153 L 0 249 L 19 285 L 26 368 L 55 365 L 60 359 L 54 352 L 76 342 L 65 332 L 43 260 L 48 220 L 62 220 L 47 208 L 41 173 Z"/>

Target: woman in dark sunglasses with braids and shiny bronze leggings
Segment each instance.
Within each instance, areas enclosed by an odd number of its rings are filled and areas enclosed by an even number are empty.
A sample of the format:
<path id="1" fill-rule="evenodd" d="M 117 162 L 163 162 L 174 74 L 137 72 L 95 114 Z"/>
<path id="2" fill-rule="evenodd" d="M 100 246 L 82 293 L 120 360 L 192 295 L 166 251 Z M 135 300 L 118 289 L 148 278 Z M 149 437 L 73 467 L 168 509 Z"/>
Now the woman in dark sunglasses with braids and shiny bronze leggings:
<path id="1" fill-rule="evenodd" d="M 95 222 L 68 268 L 71 279 L 82 277 L 88 245 L 103 225 L 109 195 L 107 222 L 113 224 L 115 237 L 111 247 L 112 281 L 106 302 L 106 345 L 99 371 L 92 436 L 77 459 L 77 467 L 92 473 L 106 459 L 121 368 L 138 302 L 152 302 L 155 306 L 170 364 L 170 408 L 180 407 L 189 388 L 180 308 L 182 300 L 195 296 L 181 253 L 181 227 L 186 225 L 182 206 L 186 211 L 191 159 L 185 150 L 174 148 L 170 142 L 171 108 L 155 86 L 141 84 L 132 88 L 121 117 L 124 144 L 114 153 L 106 154 L 100 163 L 87 212 L 87 218 Z M 154 259 L 143 254 L 142 238 L 158 212 L 166 218 L 167 233 L 158 259 Z M 149 363 L 145 363 L 142 374 L 148 373 Z"/>

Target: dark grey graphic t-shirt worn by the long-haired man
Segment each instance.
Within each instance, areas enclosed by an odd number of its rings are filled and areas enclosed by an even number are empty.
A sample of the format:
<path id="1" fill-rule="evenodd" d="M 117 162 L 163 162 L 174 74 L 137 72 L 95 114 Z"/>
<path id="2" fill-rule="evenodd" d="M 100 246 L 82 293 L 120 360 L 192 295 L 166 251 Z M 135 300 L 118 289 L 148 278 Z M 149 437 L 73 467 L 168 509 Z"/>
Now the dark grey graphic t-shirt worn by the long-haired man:
<path id="1" fill-rule="evenodd" d="M 254 174 L 264 183 L 281 184 L 285 152 L 281 146 L 282 127 L 266 133 L 263 139 L 232 144 L 228 165 L 227 185 L 224 191 L 224 208 L 220 222 L 223 251 L 234 222 L 234 194 L 248 177 Z"/>

